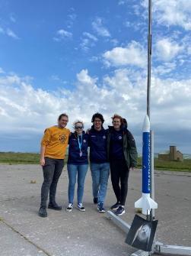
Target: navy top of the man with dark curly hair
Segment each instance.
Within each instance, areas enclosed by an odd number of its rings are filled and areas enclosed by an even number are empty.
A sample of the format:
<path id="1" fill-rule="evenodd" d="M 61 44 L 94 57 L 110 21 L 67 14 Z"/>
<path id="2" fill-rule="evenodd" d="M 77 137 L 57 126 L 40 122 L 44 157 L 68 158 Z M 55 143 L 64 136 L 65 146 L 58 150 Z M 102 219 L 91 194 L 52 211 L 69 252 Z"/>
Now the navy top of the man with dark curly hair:
<path id="1" fill-rule="evenodd" d="M 100 131 L 91 126 L 89 131 L 90 161 L 95 164 L 108 162 L 107 159 L 107 131 L 102 128 Z"/>

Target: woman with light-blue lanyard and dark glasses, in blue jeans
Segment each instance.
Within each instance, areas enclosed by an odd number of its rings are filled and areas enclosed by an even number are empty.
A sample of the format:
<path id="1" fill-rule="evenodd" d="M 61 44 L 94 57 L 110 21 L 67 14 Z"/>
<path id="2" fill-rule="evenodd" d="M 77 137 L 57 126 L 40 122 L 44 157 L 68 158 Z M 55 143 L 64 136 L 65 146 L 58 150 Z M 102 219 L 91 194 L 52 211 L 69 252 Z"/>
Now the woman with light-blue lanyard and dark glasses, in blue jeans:
<path id="1" fill-rule="evenodd" d="M 73 132 L 68 140 L 68 212 L 72 211 L 74 196 L 75 196 L 75 183 L 78 176 L 78 209 L 82 212 L 85 208 L 82 204 L 84 194 L 84 180 L 88 171 L 88 138 L 89 135 L 83 131 L 84 124 L 81 121 L 74 123 L 75 132 Z"/>

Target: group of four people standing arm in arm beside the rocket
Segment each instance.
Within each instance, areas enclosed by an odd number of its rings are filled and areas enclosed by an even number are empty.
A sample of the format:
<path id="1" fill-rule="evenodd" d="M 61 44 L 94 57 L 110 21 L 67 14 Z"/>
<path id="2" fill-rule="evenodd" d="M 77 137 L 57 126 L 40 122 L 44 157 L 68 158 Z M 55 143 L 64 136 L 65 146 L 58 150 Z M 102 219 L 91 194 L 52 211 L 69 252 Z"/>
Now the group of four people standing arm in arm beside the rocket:
<path id="1" fill-rule="evenodd" d="M 109 176 L 116 203 L 110 207 L 116 215 L 125 213 L 126 196 L 128 192 L 129 171 L 136 167 L 137 150 L 135 139 L 127 129 L 125 118 L 113 115 L 112 126 L 103 128 L 104 118 L 95 113 L 91 122 L 93 125 L 84 131 L 84 123 L 74 122 L 74 131 L 65 128 L 68 115 L 61 114 L 58 125 L 46 128 L 41 141 L 40 165 L 43 167 L 43 185 L 41 188 L 41 203 L 39 215 L 47 216 L 47 199 L 49 209 L 61 210 L 56 203 L 56 187 L 64 167 L 65 151 L 68 146 L 68 206 L 66 211 L 72 212 L 75 197 L 75 184 L 78 180 L 77 207 L 84 212 L 83 194 L 84 181 L 90 161 L 92 177 L 93 203 L 97 204 L 98 212 L 105 212 L 104 201 L 107 194 Z M 90 154 L 88 157 L 88 147 Z"/>

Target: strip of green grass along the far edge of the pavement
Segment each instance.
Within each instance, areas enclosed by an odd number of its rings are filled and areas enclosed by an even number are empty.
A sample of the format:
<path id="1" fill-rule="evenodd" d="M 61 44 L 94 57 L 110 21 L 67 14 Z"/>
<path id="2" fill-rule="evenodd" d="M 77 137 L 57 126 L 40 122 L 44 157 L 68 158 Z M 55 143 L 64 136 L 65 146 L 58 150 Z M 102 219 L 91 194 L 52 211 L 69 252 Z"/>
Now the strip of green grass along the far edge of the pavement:
<path id="1" fill-rule="evenodd" d="M 65 160 L 67 161 L 68 156 Z M 40 154 L 37 153 L 14 153 L 0 152 L 0 163 L 2 164 L 39 164 Z M 142 168 L 142 157 L 138 157 L 138 168 Z M 155 170 L 173 170 L 191 172 L 191 159 L 185 159 L 183 162 L 158 160 L 154 158 Z"/>

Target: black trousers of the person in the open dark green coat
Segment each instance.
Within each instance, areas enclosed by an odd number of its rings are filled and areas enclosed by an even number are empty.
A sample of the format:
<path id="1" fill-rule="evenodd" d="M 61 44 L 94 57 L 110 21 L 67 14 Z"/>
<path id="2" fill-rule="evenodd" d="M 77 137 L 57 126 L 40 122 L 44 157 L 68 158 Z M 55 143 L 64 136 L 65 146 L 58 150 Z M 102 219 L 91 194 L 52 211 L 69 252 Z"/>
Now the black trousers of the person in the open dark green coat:
<path id="1" fill-rule="evenodd" d="M 116 195 L 117 202 L 125 206 L 126 196 L 128 192 L 129 168 L 125 160 L 111 160 L 110 173 L 113 191 Z M 120 181 L 120 186 L 119 186 Z"/>

